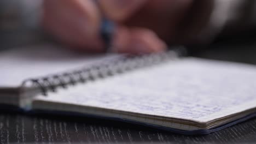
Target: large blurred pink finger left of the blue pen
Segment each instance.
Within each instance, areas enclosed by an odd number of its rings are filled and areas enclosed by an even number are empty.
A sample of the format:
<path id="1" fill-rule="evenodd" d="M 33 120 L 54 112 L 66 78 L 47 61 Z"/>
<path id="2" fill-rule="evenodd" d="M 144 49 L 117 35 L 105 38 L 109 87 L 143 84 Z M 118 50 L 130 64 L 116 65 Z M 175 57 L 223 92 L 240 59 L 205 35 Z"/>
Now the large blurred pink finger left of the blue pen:
<path id="1" fill-rule="evenodd" d="M 91 1 L 44 1 L 43 25 L 55 38 L 79 50 L 101 51 L 100 13 Z"/>

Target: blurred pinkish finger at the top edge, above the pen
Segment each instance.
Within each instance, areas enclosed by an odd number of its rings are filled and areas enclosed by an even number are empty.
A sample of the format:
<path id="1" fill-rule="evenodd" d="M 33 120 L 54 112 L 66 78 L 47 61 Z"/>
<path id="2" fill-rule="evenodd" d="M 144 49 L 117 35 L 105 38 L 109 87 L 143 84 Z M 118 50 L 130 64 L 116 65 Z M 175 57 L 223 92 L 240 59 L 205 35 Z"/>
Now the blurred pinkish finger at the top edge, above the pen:
<path id="1" fill-rule="evenodd" d="M 98 0 L 100 7 L 110 20 L 122 22 L 142 7 L 147 0 Z"/>

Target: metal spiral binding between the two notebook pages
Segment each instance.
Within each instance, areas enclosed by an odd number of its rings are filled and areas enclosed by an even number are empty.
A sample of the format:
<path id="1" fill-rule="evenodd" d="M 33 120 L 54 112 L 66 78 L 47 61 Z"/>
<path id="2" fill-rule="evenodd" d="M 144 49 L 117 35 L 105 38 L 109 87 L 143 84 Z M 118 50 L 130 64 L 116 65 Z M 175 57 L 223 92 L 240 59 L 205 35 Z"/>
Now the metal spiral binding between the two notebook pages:
<path id="1" fill-rule="evenodd" d="M 67 88 L 69 85 L 77 85 L 77 83 L 85 83 L 102 79 L 104 77 L 113 76 L 120 73 L 125 73 L 133 69 L 148 67 L 150 65 L 162 63 L 170 59 L 176 59 L 181 54 L 182 49 L 177 51 L 168 51 L 150 55 L 130 56 L 124 59 L 112 60 L 107 63 L 100 63 L 85 67 L 78 70 L 73 70 L 68 73 L 39 77 L 37 79 L 27 79 L 22 83 L 22 87 L 36 87 L 40 89 L 43 95 L 48 95 L 48 92 L 56 92 L 57 88 Z"/>

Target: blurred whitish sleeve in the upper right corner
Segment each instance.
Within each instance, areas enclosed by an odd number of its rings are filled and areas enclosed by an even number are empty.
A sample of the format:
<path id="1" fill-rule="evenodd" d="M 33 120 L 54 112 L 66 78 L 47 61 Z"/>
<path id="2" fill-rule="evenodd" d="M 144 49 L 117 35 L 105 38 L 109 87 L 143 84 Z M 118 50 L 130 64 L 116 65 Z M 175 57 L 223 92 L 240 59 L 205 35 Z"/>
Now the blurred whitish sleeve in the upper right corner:
<path id="1" fill-rule="evenodd" d="M 196 39 L 210 43 L 224 30 L 236 31 L 256 26 L 256 1 L 214 0 L 210 19 Z"/>

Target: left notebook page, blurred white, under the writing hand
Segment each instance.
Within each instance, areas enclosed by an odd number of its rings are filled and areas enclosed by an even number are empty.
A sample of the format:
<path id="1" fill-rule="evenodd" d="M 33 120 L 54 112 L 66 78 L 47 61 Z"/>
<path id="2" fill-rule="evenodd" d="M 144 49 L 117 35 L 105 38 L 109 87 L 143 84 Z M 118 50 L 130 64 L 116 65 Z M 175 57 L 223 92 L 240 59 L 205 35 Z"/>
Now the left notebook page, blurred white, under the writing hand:
<path id="1" fill-rule="evenodd" d="M 0 53 L 0 88 L 18 87 L 31 77 L 58 74 L 120 57 L 85 55 L 51 44 L 17 47 Z"/>

